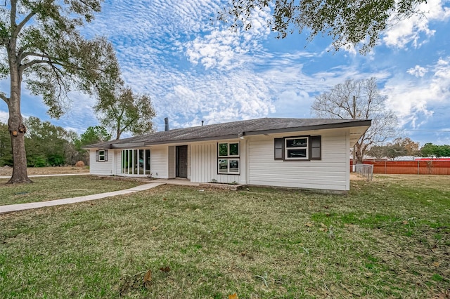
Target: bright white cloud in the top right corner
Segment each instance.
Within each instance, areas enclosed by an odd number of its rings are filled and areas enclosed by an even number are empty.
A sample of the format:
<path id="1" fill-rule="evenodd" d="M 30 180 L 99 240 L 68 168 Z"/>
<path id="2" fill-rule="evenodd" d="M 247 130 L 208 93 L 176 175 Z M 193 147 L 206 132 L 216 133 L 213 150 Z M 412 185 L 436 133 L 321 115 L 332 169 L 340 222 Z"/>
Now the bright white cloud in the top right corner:
<path id="1" fill-rule="evenodd" d="M 432 21 L 446 21 L 450 18 L 450 8 L 444 6 L 445 1 L 428 0 L 418 6 L 418 11 L 423 12 L 397 22 L 391 20 L 392 27 L 387 30 L 383 41 L 387 46 L 405 48 L 407 44 L 413 44 L 414 48 L 420 47 L 424 41 L 420 41 L 421 34 L 428 38 L 435 34 L 430 29 Z"/>

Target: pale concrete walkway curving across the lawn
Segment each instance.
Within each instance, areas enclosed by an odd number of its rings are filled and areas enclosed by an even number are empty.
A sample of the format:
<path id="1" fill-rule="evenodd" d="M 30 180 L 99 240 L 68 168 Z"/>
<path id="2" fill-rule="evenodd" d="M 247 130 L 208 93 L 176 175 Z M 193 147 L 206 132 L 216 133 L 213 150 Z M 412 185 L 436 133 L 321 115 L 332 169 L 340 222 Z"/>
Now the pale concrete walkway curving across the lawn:
<path id="1" fill-rule="evenodd" d="M 30 175 L 31 176 L 31 175 Z M 160 185 L 165 185 L 164 182 L 150 182 L 145 185 L 139 185 L 130 189 L 126 190 L 119 190 L 119 191 L 113 191 L 113 192 L 106 192 L 106 193 L 100 193 L 100 194 L 91 194 L 86 195 L 84 197 L 72 197 L 69 199 L 56 199 L 51 201 L 40 201 L 40 202 L 30 202 L 27 204 L 11 204 L 8 206 L 0 206 L 0 214 L 1 213 L 10 213 L 15 211 L 23 211 L 28 210 L 30 208 L 42 208 L 44 206 L 60 206 L 63 204 L 76 204 L 77 202 L 82 201 L 90 201 L 90 200 L 96 200 L 96 199 L 103 199 L 105 197 L 115 197 L 116 195 L 123 195 L 123 194 L 129 194 L 134 192 L 139 192 L 143 190 L 148 190 L 154 187 L 158 187 Z"/>

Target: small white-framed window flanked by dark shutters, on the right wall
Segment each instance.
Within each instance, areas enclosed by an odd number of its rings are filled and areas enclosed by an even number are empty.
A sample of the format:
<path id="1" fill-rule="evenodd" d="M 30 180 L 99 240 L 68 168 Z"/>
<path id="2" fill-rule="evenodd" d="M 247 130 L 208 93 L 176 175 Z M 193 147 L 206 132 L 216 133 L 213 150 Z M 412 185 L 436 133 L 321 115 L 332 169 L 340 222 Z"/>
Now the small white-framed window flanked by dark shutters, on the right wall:
<path id="1" fill-rule="evenodd" d="M 274 159 L 283 161 L 321 160 L 321 136 L 275 138 Z"/>

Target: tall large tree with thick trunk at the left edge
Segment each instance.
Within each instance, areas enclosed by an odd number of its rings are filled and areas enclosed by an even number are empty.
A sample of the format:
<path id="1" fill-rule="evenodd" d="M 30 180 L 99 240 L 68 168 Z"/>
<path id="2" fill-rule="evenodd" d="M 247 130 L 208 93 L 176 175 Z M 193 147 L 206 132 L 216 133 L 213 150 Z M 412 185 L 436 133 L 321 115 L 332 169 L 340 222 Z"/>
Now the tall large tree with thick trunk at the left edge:
<path id="1" fill-rule="evenodd" d="M 8 3 L 9 2 L 9 3 Z M 51 117 L 60 117 L 68 92 L 91 92 L 119 76 L 113 46 L 102 37 L 88 40 L 79 27 L 100 11 L 101 0 L 11 0 L 0 10 L 0 72 L 8 77 L 8 130 L 13 149 L 9 182 L 31 182 L 27 177 L 25 131 L 20 100 L 22 81 L 34 95 L 42 95 Z"/>

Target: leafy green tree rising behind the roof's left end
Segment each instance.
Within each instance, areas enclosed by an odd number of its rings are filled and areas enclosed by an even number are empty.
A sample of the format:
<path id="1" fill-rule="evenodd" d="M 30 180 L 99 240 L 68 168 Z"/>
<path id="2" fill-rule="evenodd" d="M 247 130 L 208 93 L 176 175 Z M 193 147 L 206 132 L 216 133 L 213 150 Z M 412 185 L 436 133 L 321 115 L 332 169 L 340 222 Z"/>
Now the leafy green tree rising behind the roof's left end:
<path id="1" fill-rule="evenodd" d="M 94 107 L 98 120 L 115 133 L 119 139 L 124 132 L 139 135 L 153 130 L 155 117 L 150 96 L 134 94 L 131 88 L 115 86 L 108 92 L 106 88 L 99 96 L 101 102 Z"/>

